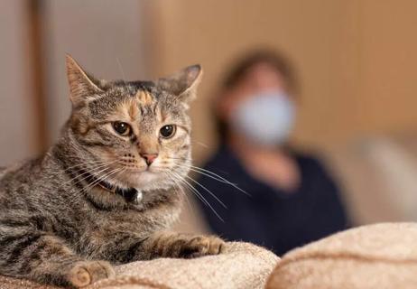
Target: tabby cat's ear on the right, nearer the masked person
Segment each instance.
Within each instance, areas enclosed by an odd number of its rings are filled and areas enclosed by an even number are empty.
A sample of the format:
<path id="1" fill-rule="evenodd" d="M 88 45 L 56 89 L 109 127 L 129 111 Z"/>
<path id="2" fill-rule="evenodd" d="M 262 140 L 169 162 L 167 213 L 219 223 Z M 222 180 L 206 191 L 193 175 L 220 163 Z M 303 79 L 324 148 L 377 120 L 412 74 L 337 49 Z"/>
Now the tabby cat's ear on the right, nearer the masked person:
<path id="1" fill-rule="evenodd" d="M 157 84 L 161 89 L 180 98 L 184 104 L 189 104 L 196 97 L 202 74 L 203 70 L 199 64 L 191 65 L 169 77 L 158 79 Z"/>

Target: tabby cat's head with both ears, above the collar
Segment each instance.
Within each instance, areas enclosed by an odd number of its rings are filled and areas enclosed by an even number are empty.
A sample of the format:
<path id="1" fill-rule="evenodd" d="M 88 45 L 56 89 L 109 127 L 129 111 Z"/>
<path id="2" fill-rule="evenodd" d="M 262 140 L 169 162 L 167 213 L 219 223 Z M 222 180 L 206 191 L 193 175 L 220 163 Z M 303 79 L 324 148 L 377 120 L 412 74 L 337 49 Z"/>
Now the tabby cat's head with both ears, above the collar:
<path id="1" fill-rule="evenodd" d="M 75 162 L 97 180 L 141 191 L 179 184 L 190 165 L 187 110 L 199 65 L 155 81 L 95 79 L 67 56 Z M 80 172 L 81 170 L 79 170 Z"/>

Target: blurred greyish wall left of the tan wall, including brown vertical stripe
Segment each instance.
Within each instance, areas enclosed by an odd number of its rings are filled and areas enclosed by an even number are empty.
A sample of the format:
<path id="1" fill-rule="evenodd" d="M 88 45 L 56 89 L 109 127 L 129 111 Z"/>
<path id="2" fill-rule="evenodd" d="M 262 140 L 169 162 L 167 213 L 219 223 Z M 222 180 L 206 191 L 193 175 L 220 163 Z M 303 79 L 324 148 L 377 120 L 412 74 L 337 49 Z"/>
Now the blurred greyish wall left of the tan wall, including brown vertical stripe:
<path id="1" fill-rule="evenodd" d="M 0 166 L 39 154 L 70 115 L 65 54 L 105 79 L 149 78 L 144 2 L 0 1 Z"/>

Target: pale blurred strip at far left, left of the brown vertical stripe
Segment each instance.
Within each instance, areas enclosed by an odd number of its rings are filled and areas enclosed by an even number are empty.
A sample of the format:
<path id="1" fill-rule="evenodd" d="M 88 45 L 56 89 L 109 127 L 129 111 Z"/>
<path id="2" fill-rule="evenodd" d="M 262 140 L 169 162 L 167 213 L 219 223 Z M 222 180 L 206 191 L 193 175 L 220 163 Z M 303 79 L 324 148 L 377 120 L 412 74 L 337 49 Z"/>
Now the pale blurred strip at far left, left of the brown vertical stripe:
<path id="1" fill-rule="evenodd" d="M 0 1 L 0 166 L 40 149 L 27 8 L 23 0 Z"/>

